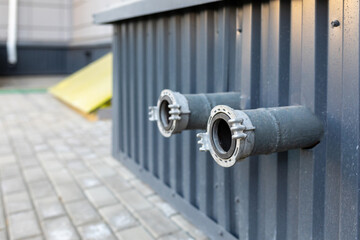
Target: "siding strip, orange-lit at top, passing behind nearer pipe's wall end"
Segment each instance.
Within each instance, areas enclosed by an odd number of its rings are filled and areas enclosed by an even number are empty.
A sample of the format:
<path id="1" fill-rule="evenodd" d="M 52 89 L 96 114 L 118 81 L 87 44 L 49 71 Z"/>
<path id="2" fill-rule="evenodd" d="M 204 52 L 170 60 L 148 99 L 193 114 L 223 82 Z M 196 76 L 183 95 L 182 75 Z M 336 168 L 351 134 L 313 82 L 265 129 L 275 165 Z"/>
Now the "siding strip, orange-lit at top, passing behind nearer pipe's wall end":
<path id="1" fill-rule="evenodd" d="M 303 1 L 301 104 L 315 108 L 315 2 Z M 312 150 L 300 151 L 299 239 L 312 238 L 313 172 Z"/>

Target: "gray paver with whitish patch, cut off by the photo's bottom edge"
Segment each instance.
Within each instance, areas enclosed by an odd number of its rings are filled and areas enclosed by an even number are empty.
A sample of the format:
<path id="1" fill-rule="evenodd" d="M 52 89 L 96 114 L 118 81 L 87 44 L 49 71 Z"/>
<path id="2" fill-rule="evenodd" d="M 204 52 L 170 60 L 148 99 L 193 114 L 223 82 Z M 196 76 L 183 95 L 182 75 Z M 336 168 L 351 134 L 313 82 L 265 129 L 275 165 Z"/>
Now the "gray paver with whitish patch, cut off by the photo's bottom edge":
<path id="1" fill-rule="evenodd" d="M 92 223 L 79 227 L 79 232 L 84 240 L 115 240 L 109 227 L 103 223 Z"/>

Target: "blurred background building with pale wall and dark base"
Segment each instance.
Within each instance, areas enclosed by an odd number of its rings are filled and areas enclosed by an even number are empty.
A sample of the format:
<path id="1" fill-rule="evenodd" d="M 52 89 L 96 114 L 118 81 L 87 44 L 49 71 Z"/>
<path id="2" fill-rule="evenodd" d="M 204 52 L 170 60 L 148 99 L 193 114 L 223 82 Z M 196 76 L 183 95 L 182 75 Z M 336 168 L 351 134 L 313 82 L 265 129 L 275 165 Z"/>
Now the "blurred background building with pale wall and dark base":
<path id="1" fill-rule="evenodd" d="M 6 42 L 9 3 L 0 0 L 0 76 L 66 75 L 111 49 L 112 26 L 93 24 L 92 15 L 115 0 L 18 0 L 17 62 L 9 64 Z M 128 1 L 129 2 L 129 1 Z"/>

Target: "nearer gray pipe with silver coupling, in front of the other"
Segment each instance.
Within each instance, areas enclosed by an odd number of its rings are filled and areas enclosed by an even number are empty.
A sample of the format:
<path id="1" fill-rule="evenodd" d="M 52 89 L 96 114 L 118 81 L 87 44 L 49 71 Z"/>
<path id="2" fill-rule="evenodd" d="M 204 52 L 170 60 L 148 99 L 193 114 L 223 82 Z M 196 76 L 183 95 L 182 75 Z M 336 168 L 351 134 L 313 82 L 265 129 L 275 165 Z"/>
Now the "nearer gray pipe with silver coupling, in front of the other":
<path id="1" fill-rule="evenodd" d="M 321 121 L 304 106 L 211 110 L 207 132 L 199 133 L 200 151 L 210 151 L 222 167 L 248 156 L 311 148 L 323 135 Z"/>

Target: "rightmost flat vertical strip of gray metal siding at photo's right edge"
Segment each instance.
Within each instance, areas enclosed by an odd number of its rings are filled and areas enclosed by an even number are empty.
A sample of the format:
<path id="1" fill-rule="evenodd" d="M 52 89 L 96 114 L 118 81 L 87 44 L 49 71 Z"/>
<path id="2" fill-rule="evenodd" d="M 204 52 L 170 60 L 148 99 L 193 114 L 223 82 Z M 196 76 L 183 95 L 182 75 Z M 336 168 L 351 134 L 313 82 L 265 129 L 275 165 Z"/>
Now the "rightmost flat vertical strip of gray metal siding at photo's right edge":
<path id="1" fill-rule="evenodd" d="M 340 239 L 359 239 L 359 9 L 344 1 Z"/>

